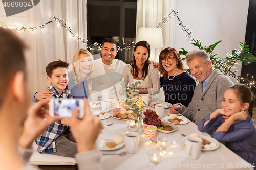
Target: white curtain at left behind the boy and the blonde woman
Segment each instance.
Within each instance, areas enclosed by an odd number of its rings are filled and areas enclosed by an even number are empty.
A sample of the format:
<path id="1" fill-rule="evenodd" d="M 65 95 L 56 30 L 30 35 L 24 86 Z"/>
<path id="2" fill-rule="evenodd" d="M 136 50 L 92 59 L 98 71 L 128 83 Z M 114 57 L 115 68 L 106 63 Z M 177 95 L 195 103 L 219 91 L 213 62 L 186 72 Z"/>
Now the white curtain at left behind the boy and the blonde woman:
<path id="1" fill-rule="evenodd" d="M 55 16 L 64 19 L 74 34 L 87 40 L 86 3 L 87 0 L 44 0 L 25 12 L 0 18 L 0 24 L 14 27 L 16 23 L 18 27 L 34 27 L 53 20 Z M 74 53 L 79 48 L 86 48 L 82 42 L 71 38 L 65 28 L 57 26 L 55 21 L 34 33 L 26 30 L 17 34 L 29 47 L 26 58 L 33 92 L 49 86 L 45 70 L 48 63 L 57 59 L 71 63 Z"/>

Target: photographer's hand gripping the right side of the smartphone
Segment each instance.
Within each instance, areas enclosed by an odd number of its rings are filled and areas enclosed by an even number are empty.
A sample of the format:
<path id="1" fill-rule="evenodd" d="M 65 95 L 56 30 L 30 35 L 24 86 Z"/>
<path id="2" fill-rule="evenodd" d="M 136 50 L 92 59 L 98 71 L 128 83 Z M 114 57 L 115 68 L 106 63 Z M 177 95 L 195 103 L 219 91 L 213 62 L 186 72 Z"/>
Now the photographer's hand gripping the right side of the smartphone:
<path id="1" fill-rule="evenodd" d="M 84 152 L 96 149 L 96 139 L 102 124 L 96 116 L 92 116 L 88 100 L 84 98 L 84 117 L 77 118 L 77 107 L 73 110 L 70 128 L 77 143 L 77 151 Z"/>

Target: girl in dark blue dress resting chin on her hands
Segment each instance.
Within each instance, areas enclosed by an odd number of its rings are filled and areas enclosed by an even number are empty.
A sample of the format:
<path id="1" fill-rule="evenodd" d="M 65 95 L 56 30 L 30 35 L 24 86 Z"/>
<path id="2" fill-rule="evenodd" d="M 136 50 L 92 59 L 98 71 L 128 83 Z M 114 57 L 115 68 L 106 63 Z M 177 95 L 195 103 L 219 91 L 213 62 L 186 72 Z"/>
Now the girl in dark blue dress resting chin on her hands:
<path id="1" fill-rule="evenodd" d="M 227 148 L 251 165 L 256 163 L 256 129 L 251 118 L 254 99 L 248 86 L 230 86 L 223 95 L 222 109 L 211 113 L 198 125 L 201 132 L 217 129 L 211 137 L 225 142 Z"/>

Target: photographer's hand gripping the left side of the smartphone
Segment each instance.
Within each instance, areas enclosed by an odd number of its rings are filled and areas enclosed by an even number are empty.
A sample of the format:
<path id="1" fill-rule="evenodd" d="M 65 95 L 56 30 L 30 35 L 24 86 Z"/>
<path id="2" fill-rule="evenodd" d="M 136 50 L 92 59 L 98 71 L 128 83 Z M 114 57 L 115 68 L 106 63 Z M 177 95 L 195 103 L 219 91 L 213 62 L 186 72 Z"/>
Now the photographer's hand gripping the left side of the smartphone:
<path id="1" fill-rule="evenodd" d="M 37 102 L 29 108 L 27 118 L 24 122 L 24 131 L 18 141 L 20 147 L 31 148 L 36 137 L 44 133 L 49 125 L 61 119 L 59 116 L 49 116 L 49 101 Z"/>

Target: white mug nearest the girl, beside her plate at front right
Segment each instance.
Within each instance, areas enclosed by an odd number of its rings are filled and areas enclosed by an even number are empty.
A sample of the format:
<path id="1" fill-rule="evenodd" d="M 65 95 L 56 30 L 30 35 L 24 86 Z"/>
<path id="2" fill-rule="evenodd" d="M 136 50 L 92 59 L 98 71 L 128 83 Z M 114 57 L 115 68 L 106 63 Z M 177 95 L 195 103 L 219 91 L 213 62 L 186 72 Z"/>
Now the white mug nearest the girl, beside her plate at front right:
<path id="1" fill-rule="evenodd" d="M 203 140 L 199 137 L 187 138 L 187 156 L 190 159 L 198 159 L 202 151 Z"/>

